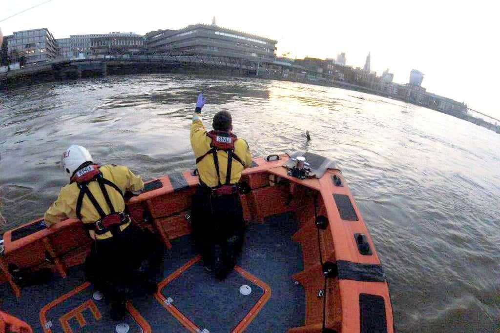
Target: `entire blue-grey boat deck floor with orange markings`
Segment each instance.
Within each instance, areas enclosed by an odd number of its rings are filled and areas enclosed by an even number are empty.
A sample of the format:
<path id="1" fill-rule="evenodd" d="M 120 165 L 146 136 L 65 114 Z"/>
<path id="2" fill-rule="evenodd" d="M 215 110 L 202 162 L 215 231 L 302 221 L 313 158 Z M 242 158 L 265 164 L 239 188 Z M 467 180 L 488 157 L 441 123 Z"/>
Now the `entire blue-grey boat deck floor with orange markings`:
<path id="1" fill-rule="evenodd" d="M 296 231 L 289 213 L 250 224 L 238 266 L 222 282 L 204 270 L 189 235 L 171 240 L 158 293 L 131 299 L 121 322 L 109 318 L 105 297 L 92 297 L 82 266 L 70 268 L 66 279 L 23 288 L 19 299 L 0 285 L 0 308 L 40 333 L 125 332 L 119 324 L 130 333 L 285 332 L 305 318 L 303 288 L 291 278 L 303 270 L 300 245 L 291 239 Z M 244 285 L 249 295 L 240 293 Z"/>

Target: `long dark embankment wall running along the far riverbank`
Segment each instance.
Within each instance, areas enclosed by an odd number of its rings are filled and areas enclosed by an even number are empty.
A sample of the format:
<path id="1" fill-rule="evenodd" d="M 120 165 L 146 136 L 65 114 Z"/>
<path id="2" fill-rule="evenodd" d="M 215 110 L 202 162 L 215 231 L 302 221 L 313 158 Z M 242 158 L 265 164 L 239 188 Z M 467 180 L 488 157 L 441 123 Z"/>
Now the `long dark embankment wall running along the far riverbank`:
<path id="1" fill-rule="evenodd" d="M 282 69 L 276 70 L 273 66 L 269 66 L 264 63 L 260 65 L 260 63 L 256 64 L 254 62 L 228 61 L 224 58 L 213 59 L 177 56 L 166 60 L 165 58 L 79 59 L 72 61 L 41 63 L 0 73 L 0 90 L 8 91 L 18 87 L 30 86 L 44 82 L 63 82 L 85 77 L 157 73 L 255 77 L 354 90 L 427 107 L 435 111 L 447 113 L 454 117 L 472 122 L 478 126 L 495 131 L 496 133 L 500 133 L 500 126 L 498 126 L 498 124 L 492 124 L 481 118 L 473 117 L 467 114 L 466 111 L 456 112 L 455 110 L 439 108 L 438 105 L 422 105 L 421 103 L 416 103 L 411 99 L 402 98 L 398 95 L 387 96 L 385 92 L 380 90 L 344 81 L 335 81 L 330 77 L 316 75 L 316 73 L 310 73 L 307 70 L 284 72 Z"/>

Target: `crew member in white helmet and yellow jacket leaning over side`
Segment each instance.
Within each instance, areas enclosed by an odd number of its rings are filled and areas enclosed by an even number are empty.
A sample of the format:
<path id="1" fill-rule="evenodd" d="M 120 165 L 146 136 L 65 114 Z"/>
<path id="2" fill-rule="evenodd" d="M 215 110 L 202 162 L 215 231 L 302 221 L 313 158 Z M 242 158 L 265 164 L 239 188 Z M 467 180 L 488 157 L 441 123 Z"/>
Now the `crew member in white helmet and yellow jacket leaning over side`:
<path id="1" fill-rule="evenodd" d="M 62 154 L 61 167 L 70 183 L 45 212 L 45 224 L 50 228 L 67 218 L 83 222 L 94 240 L 85 261 L 86 278 L 110 298 L 111 318 L 122 319 L 132 291 L 156 291 L 161 245 L 124 212 L 125 192 L 138 194 L 144 183 L 125 166 L 94 164 L 88 150 L 78 145 Z"/>

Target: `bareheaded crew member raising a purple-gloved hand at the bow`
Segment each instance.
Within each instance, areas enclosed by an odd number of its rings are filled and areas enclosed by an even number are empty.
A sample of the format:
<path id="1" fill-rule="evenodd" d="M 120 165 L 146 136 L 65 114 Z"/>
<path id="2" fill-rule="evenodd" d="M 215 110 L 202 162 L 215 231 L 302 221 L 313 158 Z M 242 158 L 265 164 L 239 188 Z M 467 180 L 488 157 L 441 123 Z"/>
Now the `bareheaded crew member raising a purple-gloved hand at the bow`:
<path id="1" fill-rule="evenodd" d="M 251 158 L 246 141 L 232 133 L 229 112 L 217 112 L 213 130 L 206 132 L 201 122 L 203 105 L 199 94 L 191 124 L 191 147 L 199 173 L 192 200 L 192 231 L 204 265 L 223 279 L 234 268 L 243 244 L 245 224 L 236 185 Z"/>

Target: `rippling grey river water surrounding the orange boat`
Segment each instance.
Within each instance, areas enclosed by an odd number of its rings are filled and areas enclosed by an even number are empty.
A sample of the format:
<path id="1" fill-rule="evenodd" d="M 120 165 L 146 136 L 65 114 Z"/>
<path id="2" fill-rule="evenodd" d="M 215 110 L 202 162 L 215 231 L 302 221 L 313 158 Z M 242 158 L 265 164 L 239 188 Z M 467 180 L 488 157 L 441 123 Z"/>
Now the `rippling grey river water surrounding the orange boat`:
<path id="1" fill-rule="evenodd" d="M 2 92 L 1 230 L 56 198 L 67 183 L 59 156 L 71 143 L 144 178 L 193 168 L 198 91 L 207 126 L 216 111 L 231 111 L 253 156 L 292 148 L 338 161 L 390 281 L 399 332 L 500 332 L 500 135 L 360 92 L 184 75 Z"/>

